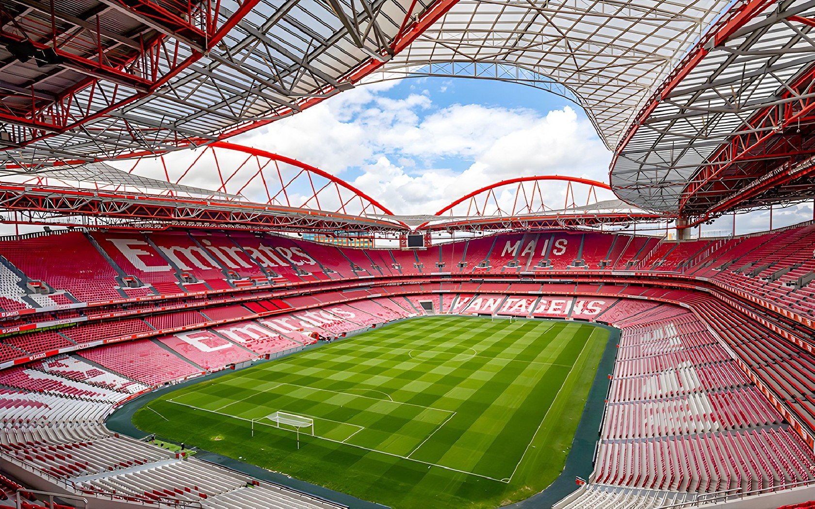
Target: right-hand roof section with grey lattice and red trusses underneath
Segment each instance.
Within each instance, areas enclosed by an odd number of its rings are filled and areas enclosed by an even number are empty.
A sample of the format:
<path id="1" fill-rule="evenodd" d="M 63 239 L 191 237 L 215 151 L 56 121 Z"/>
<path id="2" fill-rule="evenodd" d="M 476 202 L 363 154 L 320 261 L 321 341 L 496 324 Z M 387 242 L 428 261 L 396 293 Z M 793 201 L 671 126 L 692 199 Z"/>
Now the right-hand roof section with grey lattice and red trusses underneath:
<path id="1" fill-rule="evenodd" d="M 623 200 L 686 224 L 815 190 L 815 2 L 737 2 L 619 144 Z"/>

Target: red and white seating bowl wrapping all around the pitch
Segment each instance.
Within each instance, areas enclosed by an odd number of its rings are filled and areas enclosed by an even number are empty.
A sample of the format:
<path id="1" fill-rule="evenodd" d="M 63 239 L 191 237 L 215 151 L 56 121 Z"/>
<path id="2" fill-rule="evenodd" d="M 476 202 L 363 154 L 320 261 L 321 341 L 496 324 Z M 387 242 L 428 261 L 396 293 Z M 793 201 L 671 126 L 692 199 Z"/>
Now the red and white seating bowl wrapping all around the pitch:
<path id="1" fill-rule="evenodd" d="M 658 502 L 691 501 L 694 494 L 721 489 L 747 492 L 786 482 L 813 480 L 810 467 L 815 468 L 815 457 L 795 426 L 803 424 L 804 428 L 811 429 L 815 423 L 815 398 L 809 390 L 815 381 L 812 375 L 815 363 L 808 350 L 782 335 L 782 331 L 787 335 L 800 334 L 804 329 L 796 327 L 804 326 L 795 325 L 791 318 L 775 318 L 768 313 L 769 308 L 761 307 L 763 300 L 802 314 L 813 307 L 805 285 L 796 290 L 786 284 L 792 280 L 797 282 L 801 276 L 795 274 L 802 271 L 787 274 L 802 267 L 806 270 L 808 266 L 806 255 L 800 259 L 802 257 L 794 253 L 809 249 L 812 244 L 810 227 L 792 231 L 794 235 L 789 235 L 783 246 L 773 245 L 777 234 L 768 234 L 767 238 L 758 235 L 746 239 L 745 244 L 750 248 L 726 240 L 677 245 L 631 235 L 519 234 L 472 239 L 421 255 L 319 246 L 301 240 L 245 234 L 229 237 L 164 235 L 157 238 L 160 242 L 148 235 L 135 240 L 127 238 L 126 244 L 119 242 L 124 248 L 122 251 L 113 240 L 126 238 L 124 235 L 93 234 L 110 256 L 111 261 L 107 261 L 99 255 L 99 259 L 111 267 L 108 274 L 116 274 L 111 263 L 119 265 L 124 274 L 135 275 L 158 292 L 182 291 L 176 277 L 178 271 L 156 250 L 161 250 L 168 239 L 174 245 L 193 251 L 195 247 L 200 250 L 220 248 L 222 254 L 229 247 L 228 243 L 234 244 L 231 252 L 236 257 L 227 259 L 244 272 L 235 270 L 236 274 L 227 276 L 224 267 L 213 266 L 226 263 L 213 252 L 207 255 L 209 259 L 201 257 L 199 260 L 208 262 L 209 269 L 197 267 L 190 271 L 200 281 L 218 281 L 216 286 L 220 283 L 230 286 L 227 278 L 238 276 L 273 282 L 285 279 L 288 283 L 242 302 L 232 300 L 252 294 L 191 296 L 189 301 L 177 298 L 172 302 L 178 305 L 189 302 L 201 307 L 161 313 L 151 311 L 161 304 L 139 303 L 129 307 L 137 313 L 135 316 L 108 318 L 104 322 L 90 320 L 56 331 L 17 331 L 0 336 L 0 355 L 4 361 L 54 349 L 80 349 L 71 355 L 59 353 L 0 372 L 0 384 L 6 387 L 0 393 L 0 406 L 6 409 L 3 417 L 7 425 L 36 426 L 52 415 L 57 423 L 77 419 L 83 423 L 99 422 L 116 401 L 150 387 L 184 380 L 204 371 L 216 371 L 258 356 L 296 351 L 303 345 L 314 344 L 315 336 L 334 339 L 375 324 L 425 314 L 424 304 L 431 305 L 436 314 L 597 320 L 623 330 L 611 375 L 594 474 L 588 485 L 564 501 L 571 504 L 566 507 L 591 507 L 597 501 L 607 502 L 608 507 L 615 504 L 654 507 Z M 41 237 L 38 245 L 43 251 L 49 245 L 55 249 L 60 236 Z M 187 244 L 179 238 L 186 239 Z M 561 240 L 565 244 L 558 244 Z M 93 248 L 93 244 L 87 244 Z M 517 251 L 513 249 L 515 244 L 518 244 Z M 531 252 L 523 254 L 525 245 L 531 244 L 535 244 Z M 134 249 L 140 252 L 134 253 Z M 762 254 L 755 255 L 752 252 L 755 249 L 762 249 Z M 264 259 L 267 261 L 262 261 Z M 790 265 L 781 267 L 787 259 Z M 760 265 L 753 268 L 758 260 Z M 384 266 L 388 261 L 390 268 Z M 466 265 L 459 265 L 460 262 Z M 482 262 L 486 265 L 479 269 Z M 170 270 L 151 269 L 161 268 L 161 264 Z M 767 264 L 769 266 L 763 266 Z M 139 271 L 136 265 L 148 270 Z M 544 279 L 518 280 L 523 275 L 518 272 L 524 271 L 521 265 L 528 265 L 526 274 L 539 274 Z M 778 279 L 762 279 L 776 274 L 781 270 L 779 267 L 786 269 L 793 265 L 798 266 L 777 274 Z M 0 269 L 6 266 L 0 264 Z M 745 274 L 751 271 L 741 270 L 745 266 L 757 270 L 756 275 Z M 612 280 L 602 279 L 599 274 L 609 268 L 645 270 L 654 274 L 654 278 L 663 279 L 649 283 L 630 279 L 624 275 L 627 273 L 616 274 Z M 436 280 L 433 274 L 447 272 L 469 278 L 479 270 L 494 277 L 514 279 Z M 20 288 L 15 282 L 15 273 L 11 270 L 7 273 L 11 274 L 7 284 Z M 403 274 L 411 274 L 411 279 L 398 280 Z M 563 275 L 555 274 L 571 274 L 569 277 L 575 279 L 564 280 Z M 708 278 L 713 284 L 700 291 L 698 286 L 706 284 L 704 280 L 696 280 L 697 287 L 689 288 L 664 279 L 675 274 Z M 355 287 L 359 286 L 358 281 L 363 281 L 358 279 L 361 275 L 373 275 L 381 280 L 377 280 L 378 286 Z M 548 282 L 550 277 L 557 280 Z M 60 284 L 70 291 L 78 283 Z M 301 288 L 299 285 L 311 286 Z M 115 282 L 110 285 L 115 286 Z M 192 285 L 187 283 L 184 287 Z M 752 309 L 749 312 L 762 317 L 764 323 L 712 293 L 724 292 L 728 287 L 755 296 L 756 301 L 739 299 L 738 305 Z M 148 290 L 147 287 L 135 289 Z M 227 287 L 213 289 L 222 291 Z M 228 290 L 244 292 L 231 286 Z M 19 295 L 22 301 L 19 304 L 29 306 L 24 303 L 28 294 L 11 295 Z M 59 294 L 50 297 L 57 296 Z M 737 294 L 729 296 L 738 297 Z M 669 303 L 681 303 L 685 307 Z M 79 309 L 48 316 L 49 319 L 77 320 L 83 318 L 84 313 L 81 307 Z M 264 316 L 257 320 L 246 319 L 258 313 Z M 45 321 L 46 314 L 42 316 Z M 14 320 L 8 323 L 20 326 L 37 323 L 36 318 L 33 322 L 31 318 Z M 219 320 L 230 323 L 196 329 L 206 322 Z M 174 327 L 196 330 L 155 340 L 93 344 L 136 333 L 158 334 L 157 331 Z M 777 398 L 776 403 L 770 401 L 768 391 Z M 72 398 L 71 403 L 65 402 L 68 397 Z M 791 412 L 782 412 L 785 408 Z M 792 418 L 797 419 L 797 424 L 790 424 Z M 90 434 L 86 441 L 95 436 Z M 60 445 L 67 447 L 68 442 Z M 39 454 L 41 458 L 29 454 L 30 460 L 24 454 L 15 454 L 15 458 L 36 465 L 46 475 L 61 479 L 76 478 L 79 472 L 88 472 L 89 468 L 81 459 L 77 460 L 79 465 L 72 467 L 73 463 L 60 463 L 44 454 Z M 677 454 L 686 460 L 676 460 Z M 121 463 L 129 465 L 127 462 L 135 462 L 135 459 L 111 457 L 120 467 Z M 151 460 L 145 465 L 161 461 Z M 154 501 L 164 498 L 170 501 L 176 496 L 184 499 L 175 491 L 173 483 L 190 479 L 188 482 L 192 485 L 187 487 L 191 491 L 181 488 L 184 496 L 201 500 L 200 494 L 207 494 L 204 500 L 210 504 L 232 498 L 251 500 L 259 493 L 218 486 L 202 491 L 205 484 L 192 479 L 203 472 L 187 474 L 185 469 L 191 463 L 178 463 L 182 460 L 177 462 L 174 458 L 166 461 L 170 463 L 145 467 L 139 476 L 117 474 L 117 469 L 106 471 L 107 475 L 85 482 L 82 488 L 88 493 L 111 496 L 112 486 L 116 485 L 122 486 L 118 494 L 126 492 Z M 102 467 L 105 465 L 107 463 Z M 139 491 L 143 485 L 166 486 L 169 491 L 148 490 L 150 495 L 146 495 L 145 490 Z M 192 486 L 199 488 L 194 496 L 189 495 Z M 268 489 L 271 497 L 276 488 Z"/>

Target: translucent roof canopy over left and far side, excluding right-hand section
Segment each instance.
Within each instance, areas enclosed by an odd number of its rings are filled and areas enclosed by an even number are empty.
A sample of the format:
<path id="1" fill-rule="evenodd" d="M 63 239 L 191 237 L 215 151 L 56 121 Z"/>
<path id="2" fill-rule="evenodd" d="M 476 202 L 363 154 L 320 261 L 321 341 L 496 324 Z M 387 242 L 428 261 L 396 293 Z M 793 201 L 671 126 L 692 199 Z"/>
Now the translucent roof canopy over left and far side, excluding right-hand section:
<path id="1" fill-rule="evenodd" d="M 0 161 L 26 169 L 207 143 L 347 90 L 384 63 L 540 73 L 574 93 L 613 147 L 725 3 L 55 0 L 52 13 L 9 0 Z"/>

